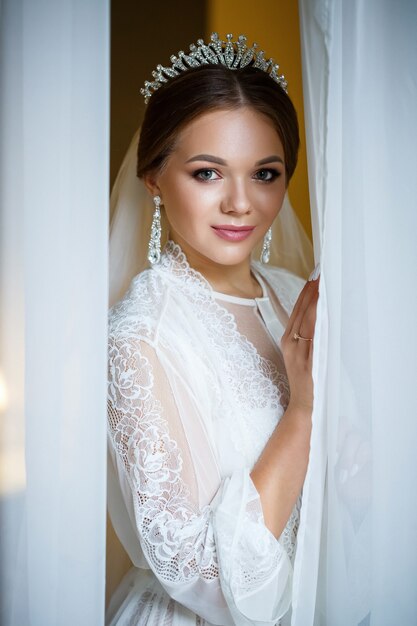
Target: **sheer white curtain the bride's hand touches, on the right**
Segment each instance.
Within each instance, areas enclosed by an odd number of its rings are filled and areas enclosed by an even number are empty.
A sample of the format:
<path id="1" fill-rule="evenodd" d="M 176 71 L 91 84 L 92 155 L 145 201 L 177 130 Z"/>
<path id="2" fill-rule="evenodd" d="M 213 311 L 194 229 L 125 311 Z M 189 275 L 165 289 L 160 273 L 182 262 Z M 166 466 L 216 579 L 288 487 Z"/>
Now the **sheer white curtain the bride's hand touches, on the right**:
<path id="1" fill-rule="evenodd" d="M 292 623 L 412 626 L 417 3 L 299 7 L 322 276 Z"/>

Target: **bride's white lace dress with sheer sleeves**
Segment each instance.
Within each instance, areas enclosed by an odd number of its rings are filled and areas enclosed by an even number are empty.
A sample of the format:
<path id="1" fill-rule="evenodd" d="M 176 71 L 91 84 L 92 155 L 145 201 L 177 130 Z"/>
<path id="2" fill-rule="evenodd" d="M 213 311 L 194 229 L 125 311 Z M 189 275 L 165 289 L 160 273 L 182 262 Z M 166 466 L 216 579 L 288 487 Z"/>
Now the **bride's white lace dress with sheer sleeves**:
<path id="1" fill-rule="evenodd" d="M 301 496 L 277 540 L 250 471 L 289 400 L 280 339 L 304 281 L 252 264 L 213 291 L 168 242 L 109 312 L 108 507 L 134 567 L 106 624 L 288 624 Z"/>

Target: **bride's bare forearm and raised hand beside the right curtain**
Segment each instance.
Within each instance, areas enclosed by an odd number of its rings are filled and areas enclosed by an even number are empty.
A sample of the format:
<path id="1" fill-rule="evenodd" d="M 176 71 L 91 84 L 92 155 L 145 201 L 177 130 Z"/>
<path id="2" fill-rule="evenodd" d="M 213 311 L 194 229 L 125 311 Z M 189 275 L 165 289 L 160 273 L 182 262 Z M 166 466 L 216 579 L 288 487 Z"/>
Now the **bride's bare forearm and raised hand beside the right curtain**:
<path id="1" fill-rule="evenodd" d="M 301 291 L 281 340 L 290 403 L 251 472 L 265 524 L 275 537 L 285 528 L 307 471 L 313 409 L 313 342 L 295 340 L 294 333 L 313 338 L 318 283 L 309 281 Z"/>

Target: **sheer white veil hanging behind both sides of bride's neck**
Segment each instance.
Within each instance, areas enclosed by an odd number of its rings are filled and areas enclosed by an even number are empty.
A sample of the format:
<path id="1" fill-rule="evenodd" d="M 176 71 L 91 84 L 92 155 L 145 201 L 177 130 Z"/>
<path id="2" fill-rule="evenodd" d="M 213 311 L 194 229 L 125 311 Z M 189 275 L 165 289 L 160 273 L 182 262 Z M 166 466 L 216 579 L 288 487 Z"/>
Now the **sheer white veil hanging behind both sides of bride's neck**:
<path id="1" fill-rule="evenodd" d="M 110 199 L 109 306 L 117 302 L 132 278 L 148 265 L 148 240 L 153 203 L 136 176 L 136 151 L 140 129 L 134 134 Z M 166 233 L 166 228 L 163 229 Z M 255 251 L 259 258 L 259 250 Z M 313 266 L 313 247 L 288 195 L 272 227 L 271 265 L 285 267 L 307 278 Z"/>

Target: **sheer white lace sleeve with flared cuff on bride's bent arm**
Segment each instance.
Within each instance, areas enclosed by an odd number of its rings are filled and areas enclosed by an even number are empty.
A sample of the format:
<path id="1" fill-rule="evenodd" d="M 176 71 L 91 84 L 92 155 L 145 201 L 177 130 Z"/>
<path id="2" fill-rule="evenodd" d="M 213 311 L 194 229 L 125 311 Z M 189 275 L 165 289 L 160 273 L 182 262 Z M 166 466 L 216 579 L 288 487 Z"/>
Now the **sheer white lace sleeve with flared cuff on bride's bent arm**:
<path id="1" fill-rule="evenodd" d="M 199 503 L 172 384 L 155 348 L 137 338 L 109 338 L 108 424 L 135 533 L 170 596 L 210 622 L 275 624 L 290 603 L 292 568 L 264 525 L 249 469 Z"/>

